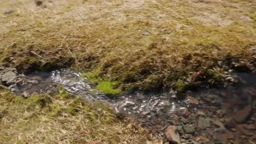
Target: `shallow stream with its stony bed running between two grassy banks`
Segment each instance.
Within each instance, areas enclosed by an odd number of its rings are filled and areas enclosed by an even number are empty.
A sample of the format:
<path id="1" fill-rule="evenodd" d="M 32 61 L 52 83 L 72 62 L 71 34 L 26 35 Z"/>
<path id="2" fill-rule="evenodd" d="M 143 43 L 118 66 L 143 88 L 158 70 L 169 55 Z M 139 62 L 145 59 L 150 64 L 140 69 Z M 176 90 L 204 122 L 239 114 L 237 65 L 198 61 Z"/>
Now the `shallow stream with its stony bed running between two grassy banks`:
<path id="1" fill-rule="evenodd" d="M 88 101 L 101 100 L 116 110 L 119 117 L 131 117 L 148 133 L 163 142 L 185 144 L 253 144 L 256 141 L 256 75 L 239 73 L 237 85 L 220 89 L 188 91 L 185 99 L 175 93 L 124 94 L 110 99 L 96 91 L 80 72 L 69 69 L 18 74 L 1 67 L 1 82 L 24 97 L 32 94 L 59 93 L 62 85 L 70 93 Z"/>

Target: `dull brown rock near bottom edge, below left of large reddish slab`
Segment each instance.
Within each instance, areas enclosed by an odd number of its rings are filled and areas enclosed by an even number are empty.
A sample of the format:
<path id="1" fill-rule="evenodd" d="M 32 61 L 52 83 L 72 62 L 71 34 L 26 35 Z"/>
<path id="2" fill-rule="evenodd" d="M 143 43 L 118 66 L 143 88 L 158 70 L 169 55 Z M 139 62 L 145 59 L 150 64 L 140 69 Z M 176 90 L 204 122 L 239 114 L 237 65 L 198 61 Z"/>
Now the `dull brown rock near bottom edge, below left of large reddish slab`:
<path id="1" fill-rule="evenodd" d="M 227 139 L 233 139 L 234 136 L 231 131 L 228 131 L 226 128 L 218 128 L 213 134 L 213 139 L 218 141 L 226 141 Z"/>

